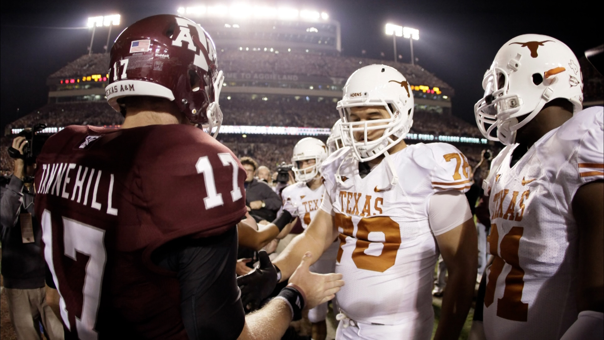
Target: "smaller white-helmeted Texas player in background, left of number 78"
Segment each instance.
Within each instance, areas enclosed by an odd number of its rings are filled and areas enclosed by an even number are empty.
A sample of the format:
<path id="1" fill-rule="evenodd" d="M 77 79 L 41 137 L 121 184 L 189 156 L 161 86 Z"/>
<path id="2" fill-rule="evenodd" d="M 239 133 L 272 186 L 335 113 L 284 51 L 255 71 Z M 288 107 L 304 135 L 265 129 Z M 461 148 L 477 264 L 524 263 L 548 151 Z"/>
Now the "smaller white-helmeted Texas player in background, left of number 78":
<path id="1" fill-rule="evenodd" d="M 298 211 L 294 214 L 300 216 L 304 229 L 315 217 L 323 200 L 325 186 L 321 180 L 321 165 L 327 159 L 327 147 L 321 140 L 313 137 L 301 139 L 294 146 L 292 157 L 292 171 L 297 183 L 283 189 L 283 206 L 294 204 Z M 292 214 L 292 215 L 294 215 Z M 292 222 L 291 224 L 293 224 Z M 285 229 L 284 229 L 285 230 Z M 333 243 L 321 257 L 313 263 L 310 271 L 314 273 L 333 273 L 338 253 L 338 242 Z M 324 340 L 327 336 L 327 302 L 309 310 L 308 319 L 312 323 L 312 339 Z"/>

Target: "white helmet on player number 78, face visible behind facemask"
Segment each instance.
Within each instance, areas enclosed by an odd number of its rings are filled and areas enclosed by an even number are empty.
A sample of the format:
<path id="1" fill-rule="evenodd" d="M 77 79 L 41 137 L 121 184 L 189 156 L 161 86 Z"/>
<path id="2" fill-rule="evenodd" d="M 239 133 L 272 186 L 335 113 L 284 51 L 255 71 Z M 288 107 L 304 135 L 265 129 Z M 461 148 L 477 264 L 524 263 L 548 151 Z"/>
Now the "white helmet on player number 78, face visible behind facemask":
<path id="1" fill-rule="evenodd" d="M 367 162 L 384 154 L 403 140 L 413 124 L 413 92 L 405 77 L 387 65 L 369 65 L 359 68 L 344 85 L 344 96 L 338 102 L 342 119 L 342 142 L 352 146 L 355 158 Z M 355 106 L 384 106 L 390 118 L 365 122 L 350 122 L 350 108 Z M 375 126 L 368 126 L 375 124 Z M 367 132 L 385 129 L 382 137 L 367 140 Z M 364 138 L 356 141 L 355 131 L 363 131 Z M 391 136 L 397 137 L 393 139 Z"/>

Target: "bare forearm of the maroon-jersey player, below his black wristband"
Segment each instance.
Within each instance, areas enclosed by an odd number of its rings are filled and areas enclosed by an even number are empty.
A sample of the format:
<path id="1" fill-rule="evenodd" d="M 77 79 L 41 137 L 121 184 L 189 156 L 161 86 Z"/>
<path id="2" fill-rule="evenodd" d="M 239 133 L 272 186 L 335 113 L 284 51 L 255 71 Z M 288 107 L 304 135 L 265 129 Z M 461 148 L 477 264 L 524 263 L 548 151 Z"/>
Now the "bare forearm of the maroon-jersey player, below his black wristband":
<path id="1" fill-rule="evenodd" d="M 245 317 L 240 340 L 280 339 L 289 327 L 292 312 L 287 302 L 273 299 L 258 312 Z"/>

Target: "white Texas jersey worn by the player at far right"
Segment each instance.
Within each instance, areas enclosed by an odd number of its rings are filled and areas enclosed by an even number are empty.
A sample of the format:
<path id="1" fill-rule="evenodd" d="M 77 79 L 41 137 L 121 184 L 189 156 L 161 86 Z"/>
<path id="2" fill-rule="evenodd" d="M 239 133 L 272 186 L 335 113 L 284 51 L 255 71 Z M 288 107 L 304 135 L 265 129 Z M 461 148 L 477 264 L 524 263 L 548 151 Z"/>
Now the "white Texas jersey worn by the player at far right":
<path id="1" fill-rule="evenodd" d="M 578 238 L 571 201 L 580 186 L 604 178 L 602 116 L 601 106 L 574 114 L 512 168 L 518 145 L 493 160 L 500 165 L 491 169 L 487 188 L 489 251 L 495 255 L 486 272 L 487 339 L 559 339 L 576 320 Z"/>

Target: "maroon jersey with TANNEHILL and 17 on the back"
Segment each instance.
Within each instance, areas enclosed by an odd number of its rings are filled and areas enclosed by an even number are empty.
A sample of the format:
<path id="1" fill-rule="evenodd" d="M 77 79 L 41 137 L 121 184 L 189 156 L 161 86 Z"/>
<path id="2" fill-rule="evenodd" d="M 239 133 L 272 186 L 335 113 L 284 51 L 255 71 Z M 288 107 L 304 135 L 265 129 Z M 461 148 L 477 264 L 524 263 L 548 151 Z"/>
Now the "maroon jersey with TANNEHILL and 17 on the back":
<path id="1" fill-rule="evenodd" d="M 69 126 L 37 157 L 36 214 L 65 338 L 187 338 L 176 273 L 151 261 L 245 215 L 245 171 L 198 128 Z"/>

